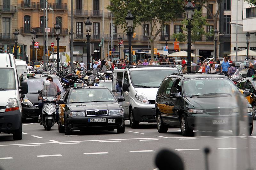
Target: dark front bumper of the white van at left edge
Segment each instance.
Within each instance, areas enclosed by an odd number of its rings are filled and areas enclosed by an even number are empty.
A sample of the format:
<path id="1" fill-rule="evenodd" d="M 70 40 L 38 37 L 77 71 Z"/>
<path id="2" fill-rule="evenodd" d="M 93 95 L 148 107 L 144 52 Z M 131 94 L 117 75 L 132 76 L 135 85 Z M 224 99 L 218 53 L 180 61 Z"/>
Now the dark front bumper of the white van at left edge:
<path id="1" fill-rule="evenodd" d="M 20 128 L 20 110 L 0 113 L 0 132 L 13 131 Z"/>

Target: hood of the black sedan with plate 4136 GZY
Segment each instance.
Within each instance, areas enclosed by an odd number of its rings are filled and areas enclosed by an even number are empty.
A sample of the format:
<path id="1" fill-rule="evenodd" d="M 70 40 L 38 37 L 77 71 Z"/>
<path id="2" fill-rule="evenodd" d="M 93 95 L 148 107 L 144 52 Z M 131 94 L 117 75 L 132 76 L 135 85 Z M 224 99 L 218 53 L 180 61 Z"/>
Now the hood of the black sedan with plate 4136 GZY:
<path id="1" fill-rule="evenodd" d="M 68 107 L 71 111 L 85 111 L 95 109 L 121 110 L 117 102 L 93 102 L 93 103 L 70 103 Z"/>

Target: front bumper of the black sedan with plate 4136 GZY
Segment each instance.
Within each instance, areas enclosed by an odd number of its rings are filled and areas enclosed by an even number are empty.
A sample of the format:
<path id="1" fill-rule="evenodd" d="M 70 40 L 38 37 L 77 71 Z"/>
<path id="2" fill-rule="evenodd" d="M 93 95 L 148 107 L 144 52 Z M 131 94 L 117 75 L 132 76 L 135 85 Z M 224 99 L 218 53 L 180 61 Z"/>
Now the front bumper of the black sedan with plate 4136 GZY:
<path id="1" fill-rule="evenodd" d="M 105 118 L 102 117 L 83 117 L 83 118 L 70 118 L 67 117 L 66 121 L 69 129 L 71 130 L 83 130 L 83 129 L 105 129 L 108 128 L 121 128 L 124 124 L 124 116 L 106 116 L 106 122 L 88 122 L 89 118 Z M 116 119 L 115 123 L 108 123 L 108 119 Z"/>

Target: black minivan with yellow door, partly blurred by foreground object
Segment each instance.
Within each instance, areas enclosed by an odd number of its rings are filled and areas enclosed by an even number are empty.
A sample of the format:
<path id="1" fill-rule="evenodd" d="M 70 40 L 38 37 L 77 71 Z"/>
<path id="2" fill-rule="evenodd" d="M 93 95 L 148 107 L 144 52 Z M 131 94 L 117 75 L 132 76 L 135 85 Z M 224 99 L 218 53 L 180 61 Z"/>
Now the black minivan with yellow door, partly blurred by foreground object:
<path id="1" fill-rule="evenodd" d="M 156 95 L 157 130 L 166 133 L 168 127 L 180 127 L 183 136 L 193 135 L 193 130 L 232 130 L 238 135 L 239 120 L 244 115 L 241 116 L 237 95 L 241 95 L 238 88 L 224 75 L 171 74 L 163 80 Z M 245 117 L 252 134 L 252 106 L 246 102 Z"/>

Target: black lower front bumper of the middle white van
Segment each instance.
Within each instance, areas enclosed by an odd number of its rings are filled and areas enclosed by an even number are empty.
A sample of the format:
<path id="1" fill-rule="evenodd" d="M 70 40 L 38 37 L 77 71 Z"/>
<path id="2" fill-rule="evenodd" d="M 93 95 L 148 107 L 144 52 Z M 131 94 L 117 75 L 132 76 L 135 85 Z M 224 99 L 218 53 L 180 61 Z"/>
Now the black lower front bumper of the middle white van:
<path id="1" fill-rule="evenodd" d="M 133 108 L 132 112 L 136 121 L 156 122 L 155 108 Z"/>

